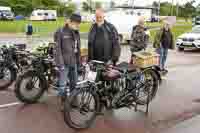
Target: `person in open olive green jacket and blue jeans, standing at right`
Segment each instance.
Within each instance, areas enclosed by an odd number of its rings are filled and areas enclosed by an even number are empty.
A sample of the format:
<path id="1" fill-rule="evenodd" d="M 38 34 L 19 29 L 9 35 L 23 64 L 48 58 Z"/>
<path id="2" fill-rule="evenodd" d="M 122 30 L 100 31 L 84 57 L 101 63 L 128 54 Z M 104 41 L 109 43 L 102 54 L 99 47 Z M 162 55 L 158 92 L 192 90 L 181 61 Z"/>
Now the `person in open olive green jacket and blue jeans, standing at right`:
<path id="1" fill-rule="evenodd" d="M 174 37 L 170 28 L 170 23 L 164 21 L 163 27 L 157 32 L 154 43 L 154 48 L 156 48 L 157 53 L 160 55 L 159 66 L 162 72 L 167 73 L 165 68 L 165 63 L 168 56 L 168 50 L 174 49 Z"/>

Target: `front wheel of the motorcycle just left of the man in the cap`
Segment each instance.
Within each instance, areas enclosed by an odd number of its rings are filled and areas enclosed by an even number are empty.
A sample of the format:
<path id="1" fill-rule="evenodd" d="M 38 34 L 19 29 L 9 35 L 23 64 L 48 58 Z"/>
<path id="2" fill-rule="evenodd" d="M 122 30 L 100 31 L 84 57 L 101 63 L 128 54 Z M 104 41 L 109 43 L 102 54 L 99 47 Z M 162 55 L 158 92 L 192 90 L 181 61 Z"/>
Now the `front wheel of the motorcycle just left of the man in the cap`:
<path id="1" fill-rule="evenodd" d="M 47 89 L 46 80 L 33 71 L 28 71 L 19 76 L 16 81 L 16 97 L 27 104 L 38 102 Z"/>

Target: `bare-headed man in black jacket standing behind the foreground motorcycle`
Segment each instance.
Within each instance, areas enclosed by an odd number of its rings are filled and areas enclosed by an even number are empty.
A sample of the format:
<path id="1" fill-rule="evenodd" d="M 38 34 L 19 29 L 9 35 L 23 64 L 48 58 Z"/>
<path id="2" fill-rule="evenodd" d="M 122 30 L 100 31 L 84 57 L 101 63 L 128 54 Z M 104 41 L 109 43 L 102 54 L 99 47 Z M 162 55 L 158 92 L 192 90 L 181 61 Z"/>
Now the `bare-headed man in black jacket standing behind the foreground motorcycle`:
<path id="1" fill-rule="evenodd" d="M 104 11 L 96 10 L 96 23 L 92 25 L 88 37 L 88 59 L 116 64 L 121 48 L 116 28 L 105 21 Z"/>

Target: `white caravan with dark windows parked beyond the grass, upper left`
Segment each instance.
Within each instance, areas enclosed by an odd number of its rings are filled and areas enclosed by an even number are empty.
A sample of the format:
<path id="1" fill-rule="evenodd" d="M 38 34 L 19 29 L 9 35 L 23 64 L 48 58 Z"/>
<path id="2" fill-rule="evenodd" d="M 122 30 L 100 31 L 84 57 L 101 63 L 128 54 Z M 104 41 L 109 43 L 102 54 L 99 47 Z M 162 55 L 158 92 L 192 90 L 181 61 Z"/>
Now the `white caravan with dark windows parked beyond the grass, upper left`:
<path id="1" fill-rule="evenodd" d="M 34 10 L 30 16 L 32 21 L 56 21 L 56 10 Z"/>

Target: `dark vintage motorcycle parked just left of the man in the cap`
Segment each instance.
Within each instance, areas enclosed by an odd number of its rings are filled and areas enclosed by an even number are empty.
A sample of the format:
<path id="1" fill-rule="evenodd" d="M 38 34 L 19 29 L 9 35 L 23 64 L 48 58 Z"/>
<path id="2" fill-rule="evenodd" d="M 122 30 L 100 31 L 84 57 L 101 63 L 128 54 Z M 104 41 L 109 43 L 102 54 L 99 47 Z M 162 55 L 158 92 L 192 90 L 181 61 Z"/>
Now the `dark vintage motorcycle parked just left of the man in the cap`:
<path id="1" fill-rule="evenodd" d="M 50 86 L 56 88 L 57 68 L 49 47 L 39 47 L 40 54 L 32 53 L 31 66 L 21 74 L 15 84 L 16 97 L 28 104 L 38 102 Z"/>

